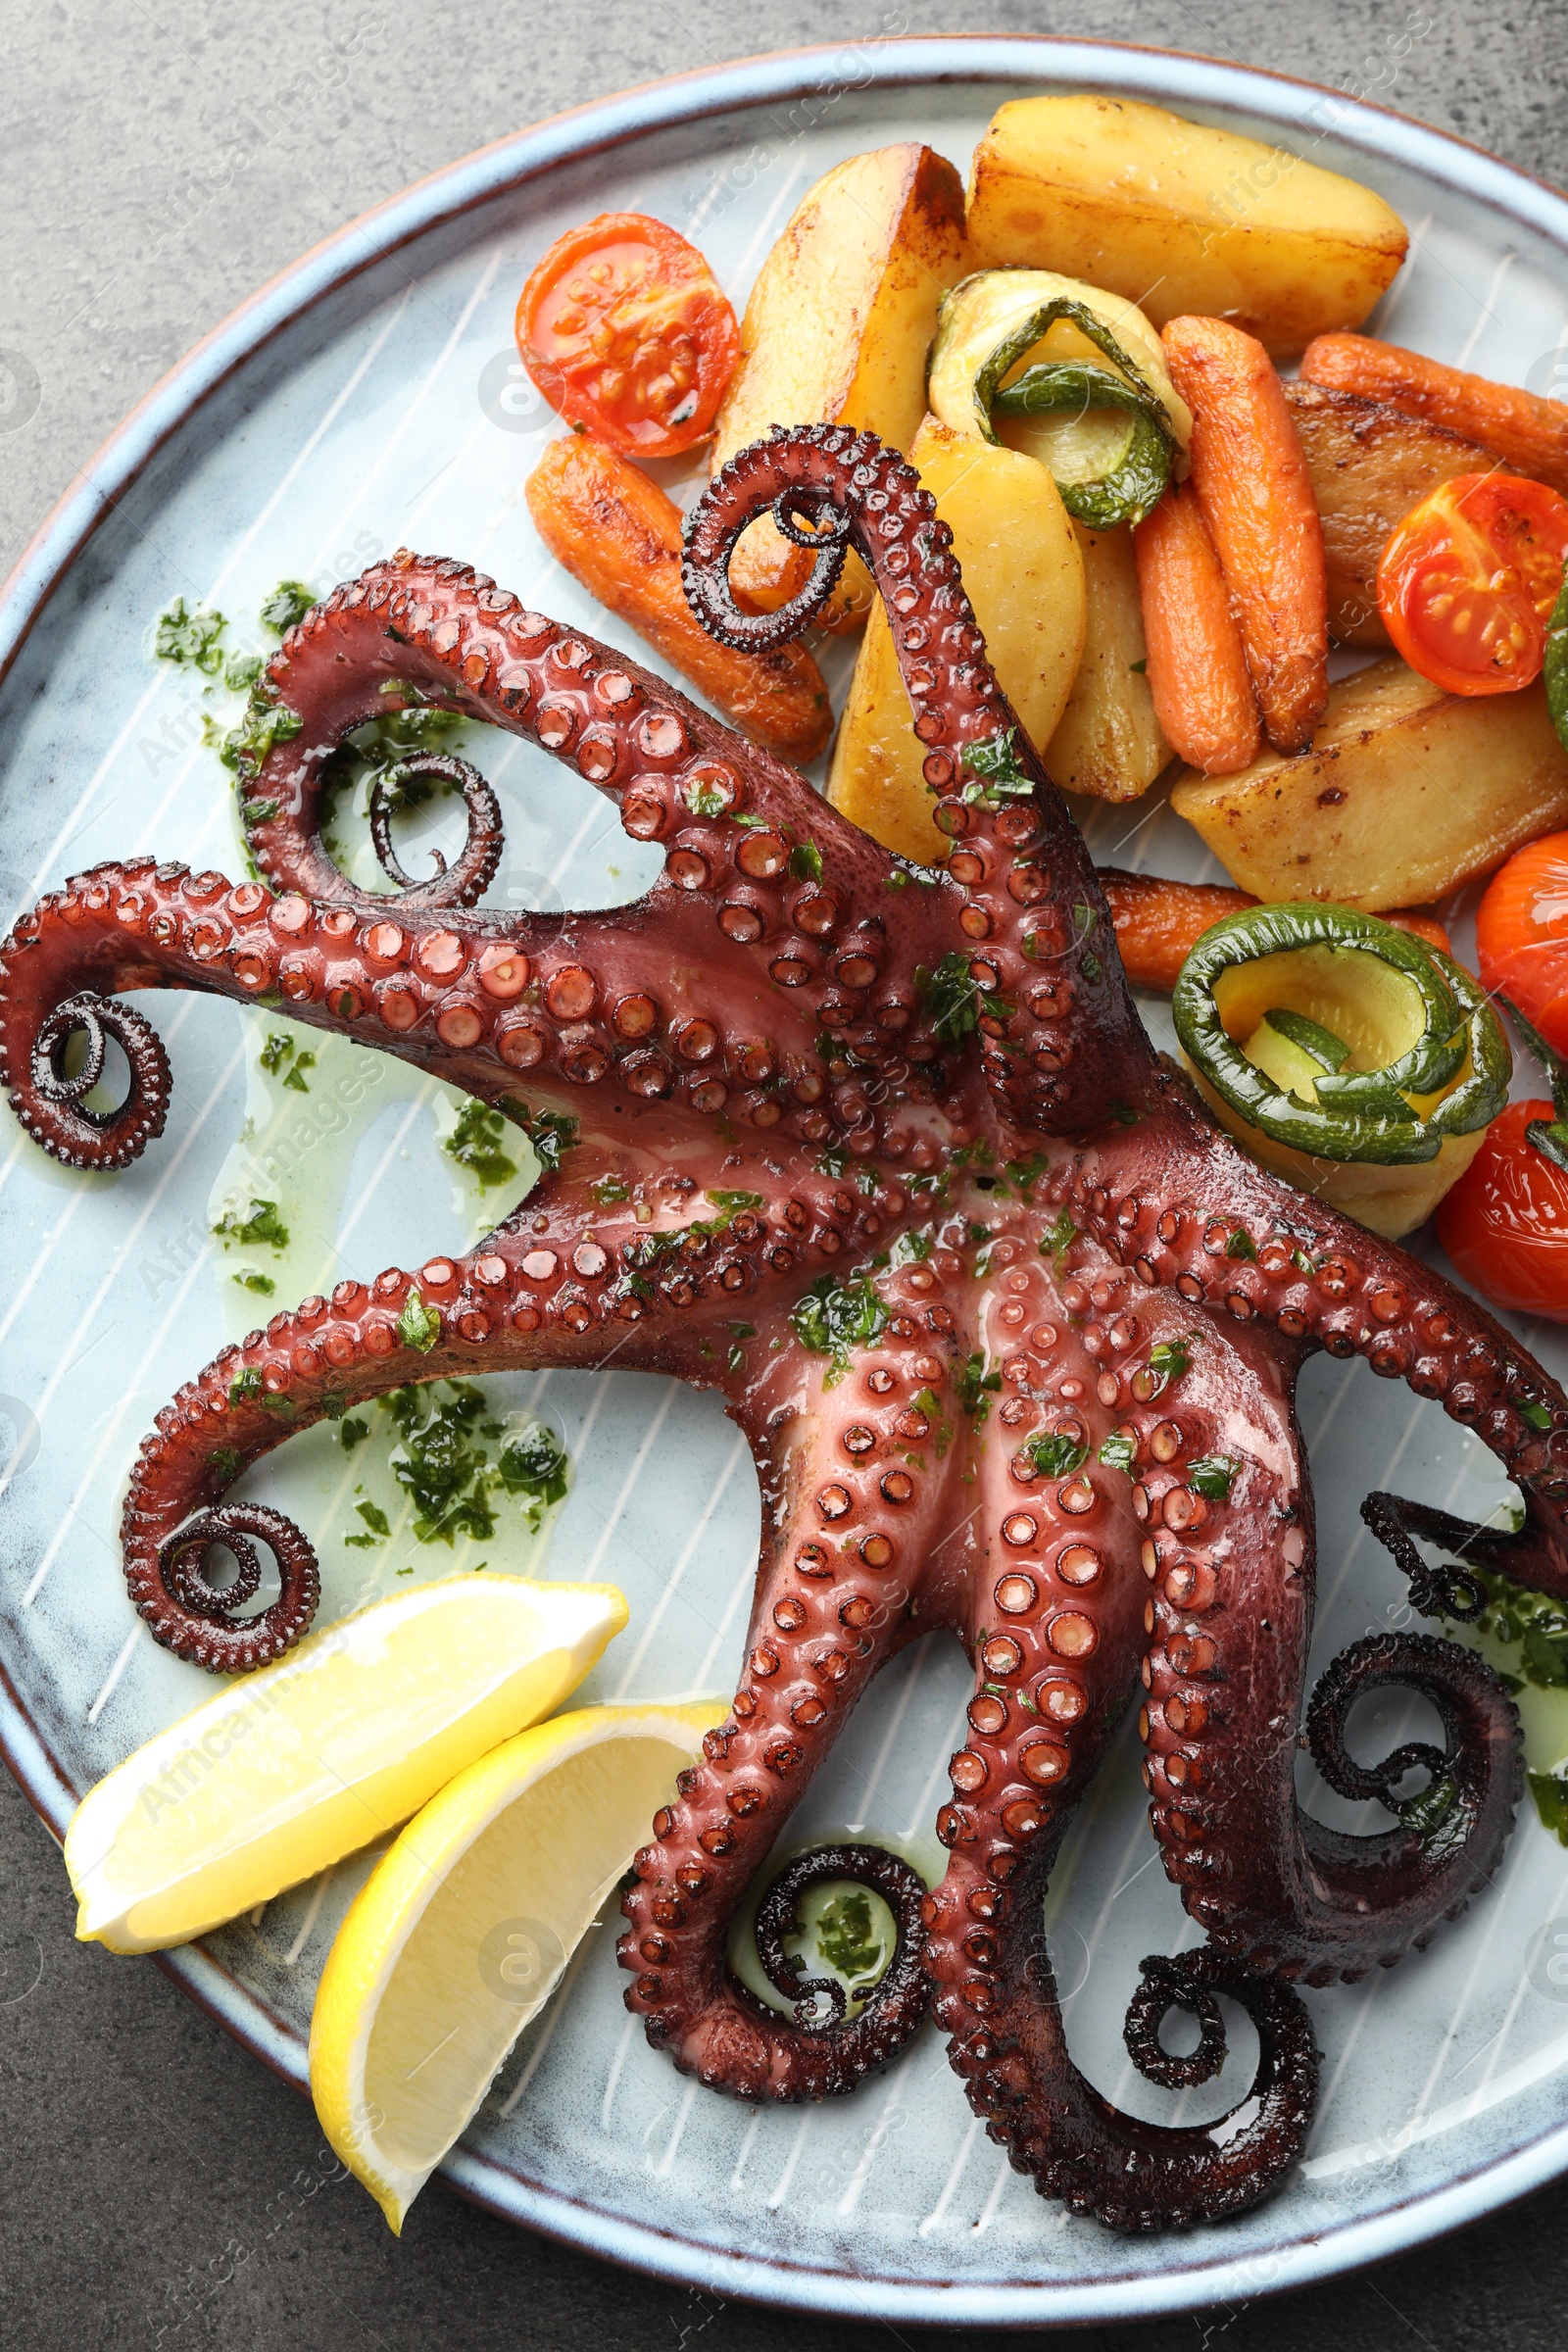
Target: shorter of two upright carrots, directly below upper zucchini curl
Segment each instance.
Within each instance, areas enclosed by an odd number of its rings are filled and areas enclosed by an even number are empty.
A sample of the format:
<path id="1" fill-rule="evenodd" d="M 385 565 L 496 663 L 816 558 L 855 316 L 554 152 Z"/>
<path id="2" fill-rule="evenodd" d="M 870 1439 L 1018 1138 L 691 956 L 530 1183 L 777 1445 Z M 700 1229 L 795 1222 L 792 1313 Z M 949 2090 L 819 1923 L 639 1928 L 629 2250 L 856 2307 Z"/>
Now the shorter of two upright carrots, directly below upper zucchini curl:
<path id="1" fill-rule="evenodd" d="M 1166 741 L 1206 776 L 1260 750 L 1258 699 L 1229 590 L 1192 487 L 1171 487 L 1133 532 L 1150 694 Z"/>

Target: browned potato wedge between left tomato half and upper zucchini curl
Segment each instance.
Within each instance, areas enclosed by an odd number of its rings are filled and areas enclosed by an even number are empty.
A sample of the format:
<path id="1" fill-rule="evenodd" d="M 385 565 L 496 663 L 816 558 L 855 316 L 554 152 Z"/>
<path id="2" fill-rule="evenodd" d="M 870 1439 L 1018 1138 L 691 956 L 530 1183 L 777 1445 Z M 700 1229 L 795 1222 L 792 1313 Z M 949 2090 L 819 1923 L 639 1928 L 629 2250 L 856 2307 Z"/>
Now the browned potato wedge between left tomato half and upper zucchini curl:
<path id="1" fill-rule="evenodd" d="M 762 263 L 712 470 L 771 426 L 865 426 L 907 452 L 926 414 L 936 306 L 966 266 L 964 183 L 943 155 L 905 141 L 835 165 Z M 741 539 L 729 576 L 743 602 L 776 612 L 806 569 L 806 553 L 764 515 Z M 863 616 L 870 602 L 870 576 L 851 555 L 825 619 Z"/>

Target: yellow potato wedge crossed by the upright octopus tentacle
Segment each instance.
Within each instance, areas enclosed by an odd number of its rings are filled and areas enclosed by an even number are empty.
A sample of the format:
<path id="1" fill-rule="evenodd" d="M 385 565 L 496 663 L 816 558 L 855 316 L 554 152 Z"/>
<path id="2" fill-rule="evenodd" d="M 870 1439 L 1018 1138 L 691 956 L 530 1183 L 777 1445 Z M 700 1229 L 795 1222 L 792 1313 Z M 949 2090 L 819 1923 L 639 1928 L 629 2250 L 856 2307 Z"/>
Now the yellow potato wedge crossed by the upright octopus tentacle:
<path id="1" fill-rule="evenodd" d="M 936 416 L 919 428 L 910 463 L 952 527 L 1001 691 L 1030 741 L 1046 743 L 1084 652 L 1084 557 L 1060 492 L 1032 456 L 952 433 Z M 931 821 L 924 755 L 877 604 L 839 720 L 827 797 L 884 847 L 940 866 L 950 844 Z"/>

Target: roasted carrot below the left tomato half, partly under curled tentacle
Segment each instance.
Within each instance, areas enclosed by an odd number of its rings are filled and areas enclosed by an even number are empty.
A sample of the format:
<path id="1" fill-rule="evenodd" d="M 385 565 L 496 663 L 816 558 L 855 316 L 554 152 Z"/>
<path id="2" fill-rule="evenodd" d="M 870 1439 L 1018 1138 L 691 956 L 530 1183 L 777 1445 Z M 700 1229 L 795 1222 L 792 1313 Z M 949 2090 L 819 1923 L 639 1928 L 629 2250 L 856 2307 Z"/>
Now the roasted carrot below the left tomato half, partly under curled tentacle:
<path id="1" fill-rule="evenodd" d="M 752 743 L 797 764 L 816 760 L 832 731 L 823 673 L 804 644 L 773 654 L 715 644 L 682 595 L 682 510 L 646 473 L 607 442 L 569 433 L 529 475 L 527 501 L 550 555 Z"/>

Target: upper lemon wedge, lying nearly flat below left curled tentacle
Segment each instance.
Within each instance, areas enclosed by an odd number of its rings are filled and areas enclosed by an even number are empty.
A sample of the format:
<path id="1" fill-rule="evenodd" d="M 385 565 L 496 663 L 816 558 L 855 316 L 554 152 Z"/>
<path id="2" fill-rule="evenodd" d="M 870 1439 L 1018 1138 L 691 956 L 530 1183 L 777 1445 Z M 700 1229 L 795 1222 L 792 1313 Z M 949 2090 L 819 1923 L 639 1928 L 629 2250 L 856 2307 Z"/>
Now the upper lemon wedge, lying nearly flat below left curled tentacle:
<path id="1" fill-rule="evenodd" d="M 78 1936 L 190 1943 L 386 1837 L 557 1708 L 623 1625 L 614 1585 L 447 1576 L 308 1635 L 82 1799 L 66 1832 Z"/>

